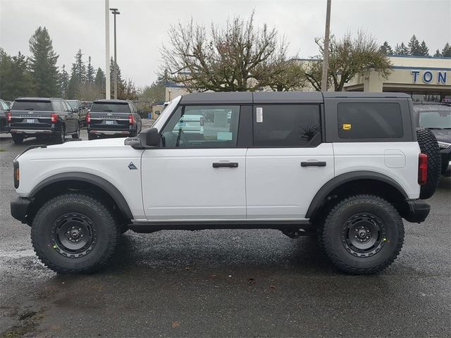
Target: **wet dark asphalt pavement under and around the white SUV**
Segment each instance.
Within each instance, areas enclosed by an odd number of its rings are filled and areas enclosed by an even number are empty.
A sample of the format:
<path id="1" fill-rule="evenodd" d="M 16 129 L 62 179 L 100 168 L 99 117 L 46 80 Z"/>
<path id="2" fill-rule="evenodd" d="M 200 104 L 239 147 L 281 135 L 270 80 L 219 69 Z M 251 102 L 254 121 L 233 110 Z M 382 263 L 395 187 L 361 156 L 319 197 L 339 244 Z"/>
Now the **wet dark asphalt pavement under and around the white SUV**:
<path id="1" fill-rule="evenodd" d="M 105 270 L 59 276 L 9 211 L 30 144 L 0 134 L 0 337 L 450 337 L 450 178 L 380 275 L 337 273 L 308 237 L 203 230 L 129 231 Z"/>

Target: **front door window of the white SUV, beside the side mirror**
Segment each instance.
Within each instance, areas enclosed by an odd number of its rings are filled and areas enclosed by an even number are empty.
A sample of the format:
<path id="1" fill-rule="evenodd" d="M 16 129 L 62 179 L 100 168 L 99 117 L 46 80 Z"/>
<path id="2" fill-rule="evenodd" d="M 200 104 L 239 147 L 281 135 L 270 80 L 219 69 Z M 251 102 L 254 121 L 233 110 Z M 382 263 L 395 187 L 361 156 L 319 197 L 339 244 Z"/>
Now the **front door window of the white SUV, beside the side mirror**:
<path id="1" fill-rule="evenodd" d="M 232 148 L 240 106 L 180 106 L 161 132 L 167 148 Z"/>

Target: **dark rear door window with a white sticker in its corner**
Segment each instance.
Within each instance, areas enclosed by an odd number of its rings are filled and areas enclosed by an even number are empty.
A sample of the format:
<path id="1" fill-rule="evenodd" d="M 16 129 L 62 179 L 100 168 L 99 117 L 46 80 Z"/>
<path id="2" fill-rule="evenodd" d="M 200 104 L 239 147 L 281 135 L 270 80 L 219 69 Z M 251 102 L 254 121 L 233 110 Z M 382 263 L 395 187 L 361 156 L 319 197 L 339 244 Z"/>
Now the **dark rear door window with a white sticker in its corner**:
<path id="1" fill-rule="evenodd" d="M 254 106 L 254 146 L 318 146 L 321 120 L 317 105 Z"/>

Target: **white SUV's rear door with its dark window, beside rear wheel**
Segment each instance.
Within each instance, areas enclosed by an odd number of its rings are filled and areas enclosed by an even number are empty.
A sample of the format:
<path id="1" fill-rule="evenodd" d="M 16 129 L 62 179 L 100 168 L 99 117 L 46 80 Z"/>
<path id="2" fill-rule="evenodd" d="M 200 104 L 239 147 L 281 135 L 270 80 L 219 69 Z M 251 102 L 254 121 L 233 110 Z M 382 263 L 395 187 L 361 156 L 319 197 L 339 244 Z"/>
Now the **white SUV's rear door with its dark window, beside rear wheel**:
<path id="1" fill-rule="evenodd" d="M 323 143 L 319 104 L 257 104 L 246 155 L 247 218 L 302 220 L 333 178 L 333 146 Z"/>

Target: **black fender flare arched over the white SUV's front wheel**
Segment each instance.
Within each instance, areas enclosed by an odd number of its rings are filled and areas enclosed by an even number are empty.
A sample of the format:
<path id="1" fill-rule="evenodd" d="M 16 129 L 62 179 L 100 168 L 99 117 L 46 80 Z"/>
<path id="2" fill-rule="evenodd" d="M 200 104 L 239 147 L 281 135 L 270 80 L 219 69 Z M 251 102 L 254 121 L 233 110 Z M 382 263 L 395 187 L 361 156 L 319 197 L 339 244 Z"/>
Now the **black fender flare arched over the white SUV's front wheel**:
<path id="1" fill-rule="evenodd" d="M 125 215 L 126 218 L 128 218 L 129 220 L 133 219 L 132 211 L 130 211 L 130 207 L 128 206 L 127 201 L 125 201 L 123 194 L 121 194 L 118 188 L 111 184 L 111 182 L 108 182 L 104 178 L 94 174 L 71 172 L 52 175 L 36 184 L 36 186 L 30 192 L 29 196 L 30 198 L 33 198 L 44 187 L 47 187 L 50 184 L 54 184 L 56 182 L 63 181 L 87 182 L 99 187 L 100 189 L 104 190 L 106 194 L 109 194 L 109 196 L 111 196 L 111 199 L 116 202 L 119 210 L 121 211 L 121 213 L 123 213 L 123 215 Z"/>

